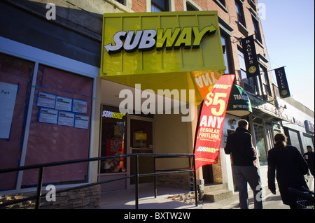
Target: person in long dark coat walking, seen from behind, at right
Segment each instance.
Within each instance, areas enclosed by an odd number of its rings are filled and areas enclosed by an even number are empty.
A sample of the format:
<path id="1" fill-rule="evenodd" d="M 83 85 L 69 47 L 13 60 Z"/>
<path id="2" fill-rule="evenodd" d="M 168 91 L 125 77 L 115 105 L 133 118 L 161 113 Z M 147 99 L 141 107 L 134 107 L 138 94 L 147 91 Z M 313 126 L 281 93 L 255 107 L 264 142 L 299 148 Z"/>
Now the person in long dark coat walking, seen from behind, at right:
<path id="1" fill-rule="evenodd" d="M 268 152 L 268 188 L 272 194 L 276 194 L 276 175 L 282 202 L 291 209 L 296 209 L 297 194 L 290 192 L 288 188 L 303 190 L 302 187 L 306 187 L 308 189 L 304 179 L 304 175 L 308 172 L 307 162 L 297 148 L 286 145 L 286 135 L 276 134 L 274 141 L 274 148 Z"/>

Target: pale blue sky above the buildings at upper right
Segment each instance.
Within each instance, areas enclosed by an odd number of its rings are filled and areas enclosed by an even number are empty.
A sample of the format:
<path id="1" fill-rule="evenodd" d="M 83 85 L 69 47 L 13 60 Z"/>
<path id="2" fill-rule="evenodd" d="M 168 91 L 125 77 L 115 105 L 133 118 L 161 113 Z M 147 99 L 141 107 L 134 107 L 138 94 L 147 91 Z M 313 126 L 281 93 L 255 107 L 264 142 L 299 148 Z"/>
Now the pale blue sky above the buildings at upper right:
<path id="1" fill-rule="evenodd" d="M 258 0 L 258 6 L 270 69 L 286 66 L 290 95 L 314 111 L 314 0 Z"/>

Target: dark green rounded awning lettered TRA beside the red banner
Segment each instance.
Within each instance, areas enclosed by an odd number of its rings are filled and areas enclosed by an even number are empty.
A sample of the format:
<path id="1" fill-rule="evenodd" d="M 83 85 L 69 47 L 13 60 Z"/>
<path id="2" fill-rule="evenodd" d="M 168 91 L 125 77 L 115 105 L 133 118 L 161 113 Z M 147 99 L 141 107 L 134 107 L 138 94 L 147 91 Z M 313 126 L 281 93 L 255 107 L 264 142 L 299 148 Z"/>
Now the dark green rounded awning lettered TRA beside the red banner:
<path id="1" fill-rule="evenodd" d="M 239 85 L 233 85 L 226 113 L 243 117 L 252 113 L 251 101 L 245 90 Z"/>

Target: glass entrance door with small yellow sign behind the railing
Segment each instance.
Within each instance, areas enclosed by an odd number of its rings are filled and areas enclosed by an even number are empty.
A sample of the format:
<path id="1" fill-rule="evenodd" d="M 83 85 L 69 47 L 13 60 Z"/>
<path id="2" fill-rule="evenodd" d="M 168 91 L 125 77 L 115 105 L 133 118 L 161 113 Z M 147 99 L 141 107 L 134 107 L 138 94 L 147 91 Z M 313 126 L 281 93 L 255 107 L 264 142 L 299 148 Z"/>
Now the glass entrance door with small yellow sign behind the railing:
<path id="1" fill-rule="evenodd" d="M 129 115 L 130 131 L 128 134 L 130 153 L 153 153 L 153 118 Z M 129 129 L 129 128 L 128 128 Z M 130 174 L 135 174 L 135 158 L 130 159 Z M 153 157 L 139 157 L 139 174 L 153 173 Z M 141 177 L 139 183 L 153 182 L 153 177 Z M 135 179 L 130 179 L 130 185 Z"/>

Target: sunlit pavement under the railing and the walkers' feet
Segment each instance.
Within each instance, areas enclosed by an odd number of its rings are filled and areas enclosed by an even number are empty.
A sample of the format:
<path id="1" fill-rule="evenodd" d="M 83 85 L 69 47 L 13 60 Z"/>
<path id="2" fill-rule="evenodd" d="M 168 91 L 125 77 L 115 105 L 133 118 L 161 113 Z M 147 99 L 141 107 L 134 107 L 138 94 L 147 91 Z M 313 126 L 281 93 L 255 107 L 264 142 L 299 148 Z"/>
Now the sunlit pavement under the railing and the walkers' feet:
<path id="1" fill-rule="evenodd" d="M 314 178 L 308 178 L 309 189 L 314 191 Z M 198 206 L 195 203 L 184 203 L 173 201 L 169 196 L 187 193 L 187 190 L 169 187 L 158 187 L 158 196 L 154 197 L 153 185 L 151 187 L 139 188 L 139 209 L 239 209 L 238 193 L 233 194 L 229 199 L 214 203 L 200 201 Z M 253 209 L 253 192 L 248 192 L 249 208 Z M 289 209 L 281 201 L 279 190 L 276 195 L 271 194 L 269 189 L 264 188 L 262 192 L 264 209 Z M 101 194 L 101 209 L 135 209 L 135 190 L 128 189 L 116 192 L 104 192 Z"/>

